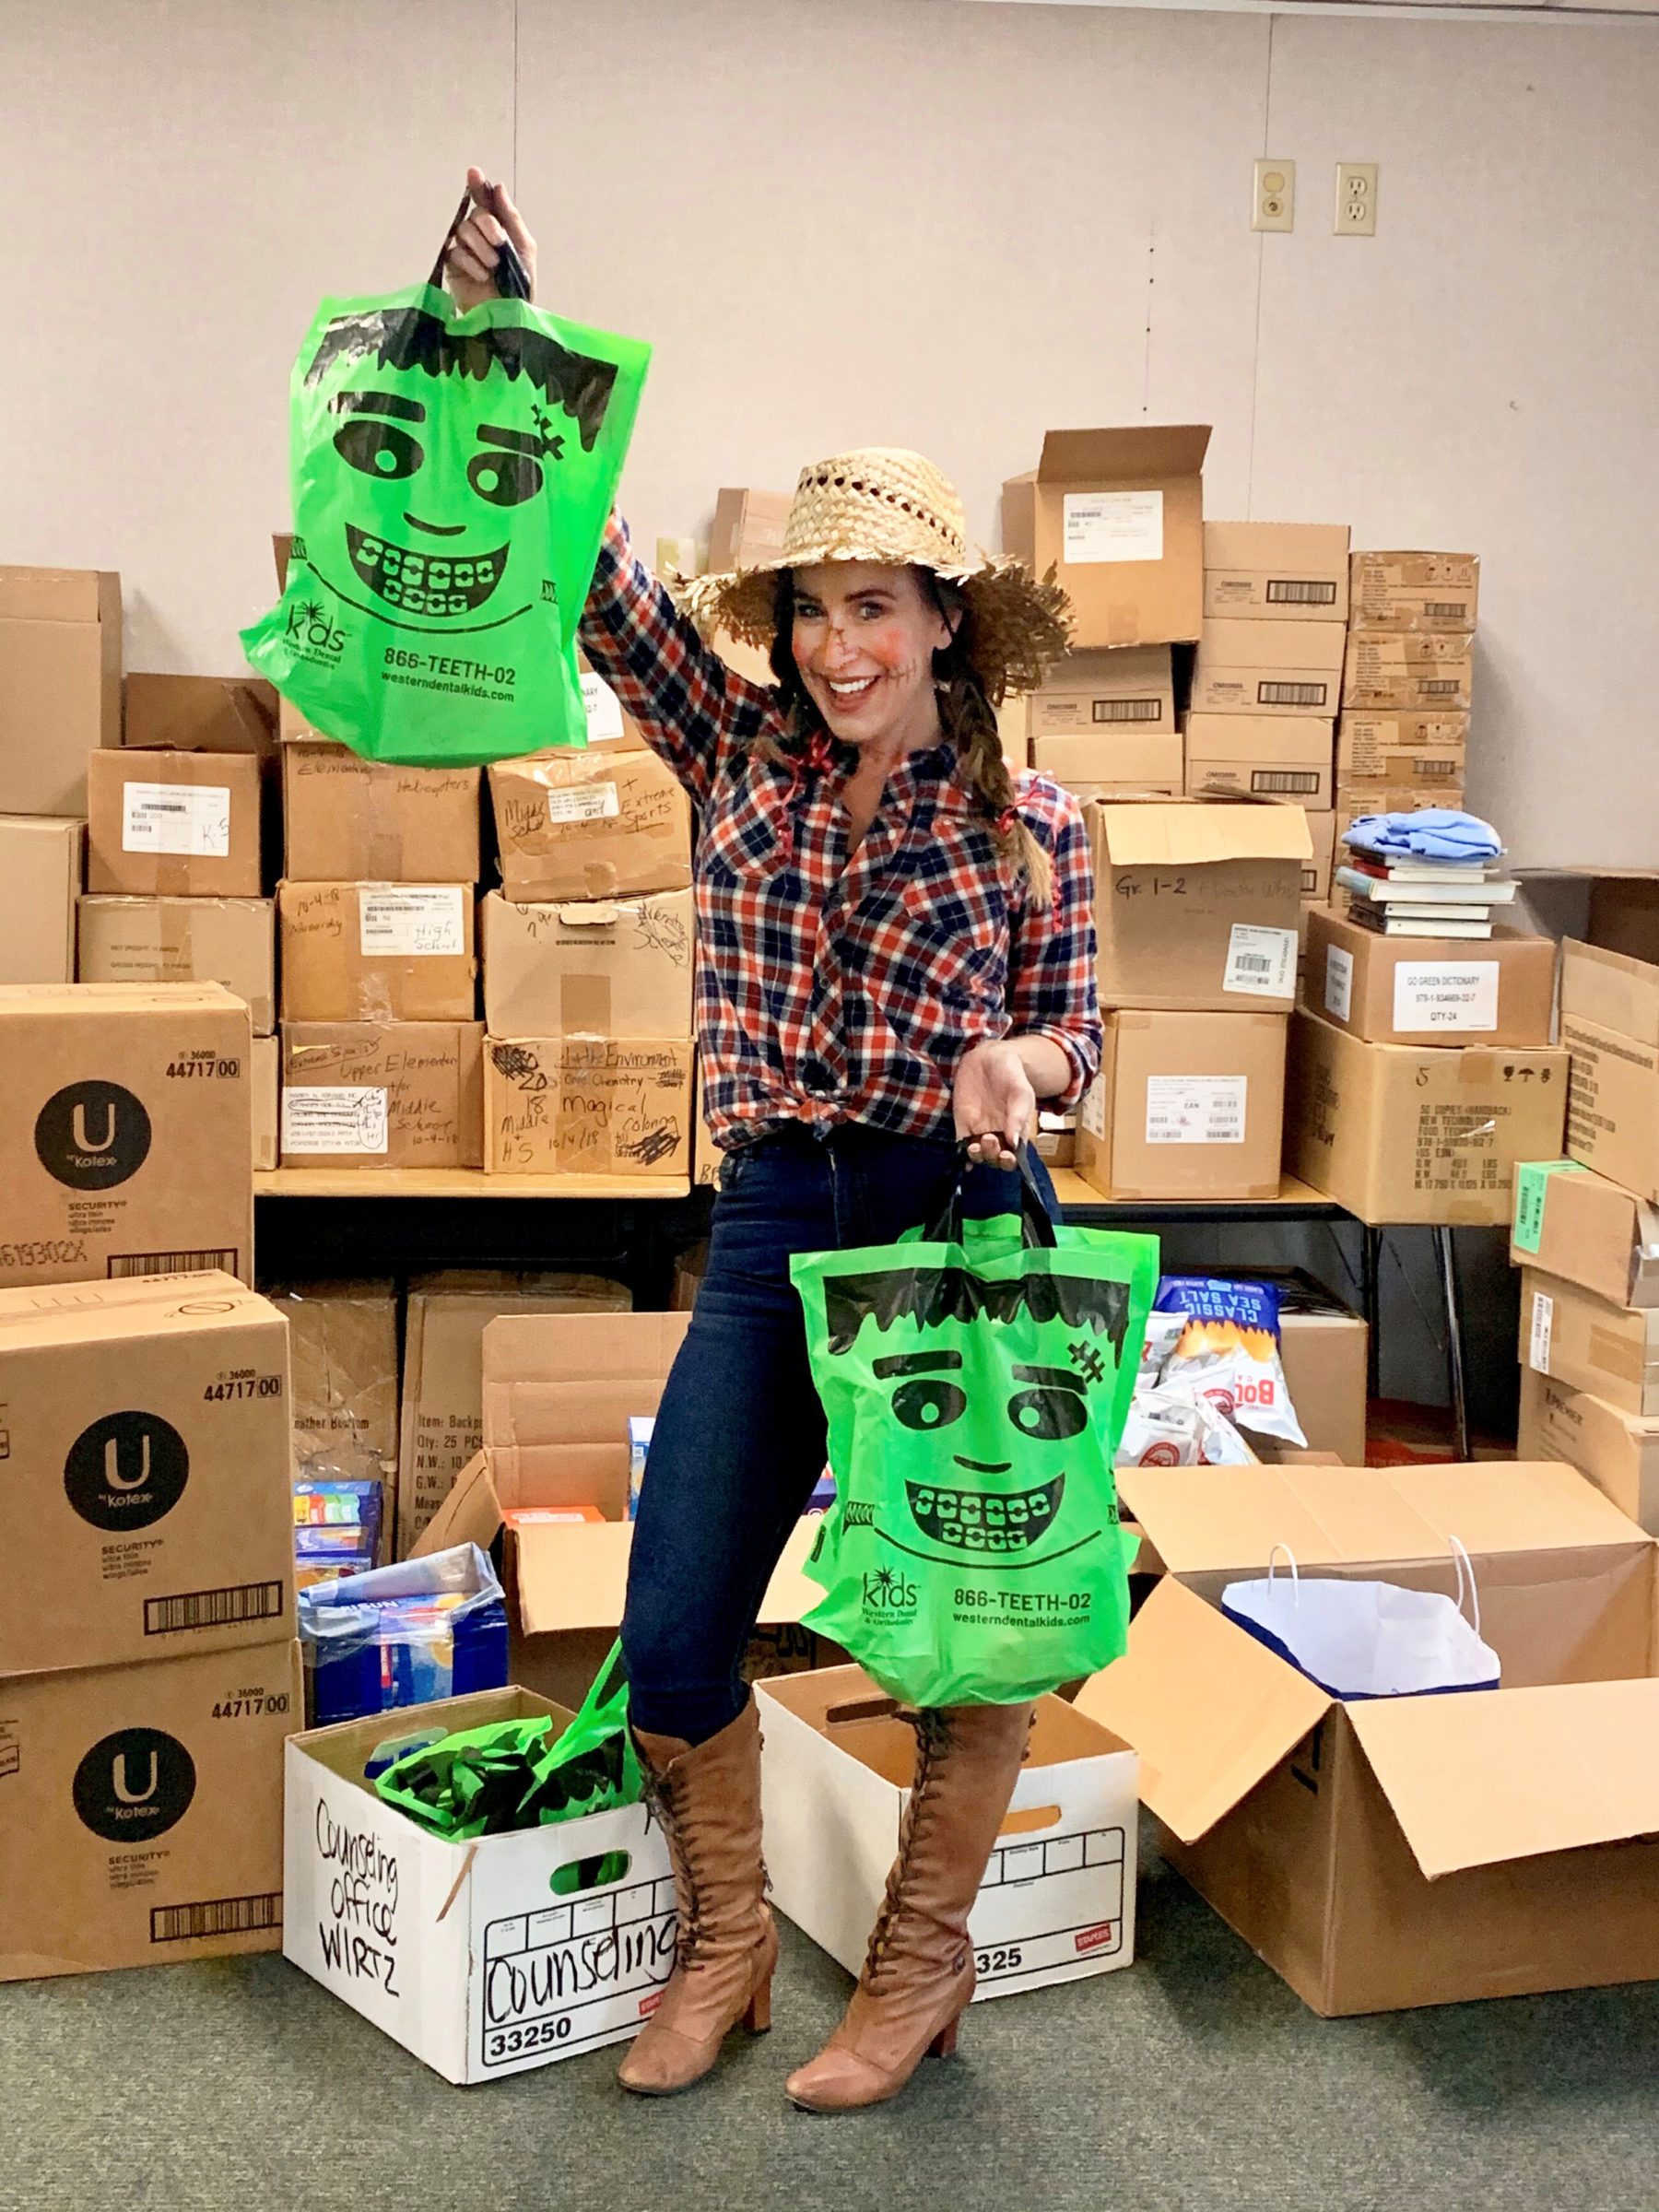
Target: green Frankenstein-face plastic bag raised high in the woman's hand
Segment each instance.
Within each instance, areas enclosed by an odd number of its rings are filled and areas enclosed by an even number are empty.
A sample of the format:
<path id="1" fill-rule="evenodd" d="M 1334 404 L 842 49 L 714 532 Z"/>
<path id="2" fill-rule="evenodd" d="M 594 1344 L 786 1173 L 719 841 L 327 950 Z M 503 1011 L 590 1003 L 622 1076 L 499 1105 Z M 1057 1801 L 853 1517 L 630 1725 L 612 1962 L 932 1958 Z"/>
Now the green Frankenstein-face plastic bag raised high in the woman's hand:
<path id="1" fill-rule="evenodd" d="M 372 761 L 586 743 L 575 626 L 650 347 L 524 301 L 325 299 L 290 383 L 294 546 L 252 666 Z"/>

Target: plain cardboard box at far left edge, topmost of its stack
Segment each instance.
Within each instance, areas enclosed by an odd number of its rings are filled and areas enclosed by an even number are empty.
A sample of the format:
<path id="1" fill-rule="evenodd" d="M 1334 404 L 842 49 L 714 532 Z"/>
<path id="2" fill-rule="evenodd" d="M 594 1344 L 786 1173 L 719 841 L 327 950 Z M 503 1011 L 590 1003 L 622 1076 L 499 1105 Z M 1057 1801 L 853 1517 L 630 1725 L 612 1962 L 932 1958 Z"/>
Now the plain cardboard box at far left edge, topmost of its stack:
<path id="1" fill-rule="evenodd" d="M 86 754 L 119 741 L 119 575 L 0 568 L 0 814 L 86 814 Z"/>

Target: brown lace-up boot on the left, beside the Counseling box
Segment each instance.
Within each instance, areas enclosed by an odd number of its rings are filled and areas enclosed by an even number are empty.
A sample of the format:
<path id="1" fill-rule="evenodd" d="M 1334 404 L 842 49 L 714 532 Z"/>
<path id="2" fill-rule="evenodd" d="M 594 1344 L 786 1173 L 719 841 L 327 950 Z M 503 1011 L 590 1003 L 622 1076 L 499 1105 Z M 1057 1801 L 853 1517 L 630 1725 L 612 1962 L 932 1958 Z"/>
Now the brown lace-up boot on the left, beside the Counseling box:
<path id="1" fill-rule="evenodd" d="M 750 1697 L 708 1743 L 641 1728 L 633 1741 L 675 1867 L 679 1947 L 617 2079 L 641 2097 L 672 2097 L 701 2081 L 739 2020 L 750 2035 L 772 2026 L 779 1931 L 761 1865 L 761 1717 Z"/>

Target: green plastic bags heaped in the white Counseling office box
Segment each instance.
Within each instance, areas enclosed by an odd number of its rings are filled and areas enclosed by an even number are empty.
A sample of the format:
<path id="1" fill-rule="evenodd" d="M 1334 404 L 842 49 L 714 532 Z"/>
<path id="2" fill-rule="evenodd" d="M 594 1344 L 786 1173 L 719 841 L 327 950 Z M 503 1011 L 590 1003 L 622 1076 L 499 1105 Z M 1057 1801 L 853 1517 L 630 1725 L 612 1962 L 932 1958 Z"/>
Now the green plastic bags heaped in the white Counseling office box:
<path id="1" fill-rule="evenodd" d="M 394 1761 L 374 1790 L 451 1843 L 637 1805 L 644 1778 L 628 1732 L 622 1644 L 611 1646 L 582 1712 L 557 1741 L 551 1736 L 546 1717 L 462 1728 Z"/>

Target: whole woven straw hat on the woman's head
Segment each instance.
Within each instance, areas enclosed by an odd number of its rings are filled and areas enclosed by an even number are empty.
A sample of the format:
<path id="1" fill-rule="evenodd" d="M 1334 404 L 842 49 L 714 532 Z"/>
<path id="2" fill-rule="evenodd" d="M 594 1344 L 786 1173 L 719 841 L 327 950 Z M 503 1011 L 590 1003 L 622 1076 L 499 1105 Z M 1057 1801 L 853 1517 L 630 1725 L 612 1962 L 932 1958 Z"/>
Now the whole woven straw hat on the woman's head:
<path id="1" fill-rule="evenodd" d="M 728 575 L 695 577 L 684 604 L 708 637 L 730 630 L 770 653 L 779 571 L 830 560 L 914 564 L 956 584 L 971 615 L 967 657 L 993 703 L 1033 690 L 1066 650 L 1064 591 L 1018 560 L 971 553 L 956 487 L 931 460 L 889 445 L 814 460 L 794 487 L 783 549 Z"/>

